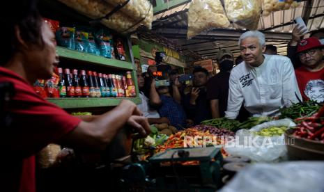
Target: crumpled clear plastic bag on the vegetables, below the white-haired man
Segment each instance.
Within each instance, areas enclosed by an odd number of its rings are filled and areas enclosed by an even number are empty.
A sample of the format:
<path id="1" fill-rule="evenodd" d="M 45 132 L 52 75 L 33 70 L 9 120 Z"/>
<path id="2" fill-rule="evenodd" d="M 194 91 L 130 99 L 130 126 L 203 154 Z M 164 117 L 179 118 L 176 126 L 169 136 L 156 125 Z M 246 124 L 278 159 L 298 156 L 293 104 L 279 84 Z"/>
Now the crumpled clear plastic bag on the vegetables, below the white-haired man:
<path id="1" fill-rule="evenodd" d="M 277 161 L 286 155 L 284 134 L 281 136 L 257 136 L 254 131 L 272 126 L 294 127 L 290 119 L 273 120 L 256 125 L 251 129 L 240 129 L 236 132 L 235 141 L 226 143 L 224 150 L 231 155 L 245 156 L 252 161 Z M 235 145 L 234 145 L 235 144 Z M 239 144 L 239 145 L 237 145 Z"/>

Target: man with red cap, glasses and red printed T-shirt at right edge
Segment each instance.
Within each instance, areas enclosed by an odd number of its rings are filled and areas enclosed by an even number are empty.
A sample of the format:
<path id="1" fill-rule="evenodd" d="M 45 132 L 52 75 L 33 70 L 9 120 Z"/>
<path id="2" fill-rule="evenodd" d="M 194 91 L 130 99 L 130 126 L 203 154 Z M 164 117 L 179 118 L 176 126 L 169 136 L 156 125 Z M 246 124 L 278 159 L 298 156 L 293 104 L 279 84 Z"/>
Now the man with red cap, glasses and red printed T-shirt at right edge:
<path id="1" fill-rule="evenodd" d="M 295 74 L 302 99 L 324 102 L 324 45 L 317 38 L 300 40 L 297 53 L 302 66 Z"/>

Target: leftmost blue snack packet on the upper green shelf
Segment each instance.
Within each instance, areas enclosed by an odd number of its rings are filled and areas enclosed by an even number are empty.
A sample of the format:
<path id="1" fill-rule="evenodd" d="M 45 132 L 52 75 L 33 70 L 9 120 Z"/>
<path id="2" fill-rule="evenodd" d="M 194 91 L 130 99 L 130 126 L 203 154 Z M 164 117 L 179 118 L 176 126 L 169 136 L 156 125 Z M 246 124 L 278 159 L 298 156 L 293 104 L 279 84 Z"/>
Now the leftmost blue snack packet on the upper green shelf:
<path id="1" fill-rule="evenodd" d="M 75 49 L 75 28 L 62 26 L 56 31 L 56 40 L 59 46 Z"/>

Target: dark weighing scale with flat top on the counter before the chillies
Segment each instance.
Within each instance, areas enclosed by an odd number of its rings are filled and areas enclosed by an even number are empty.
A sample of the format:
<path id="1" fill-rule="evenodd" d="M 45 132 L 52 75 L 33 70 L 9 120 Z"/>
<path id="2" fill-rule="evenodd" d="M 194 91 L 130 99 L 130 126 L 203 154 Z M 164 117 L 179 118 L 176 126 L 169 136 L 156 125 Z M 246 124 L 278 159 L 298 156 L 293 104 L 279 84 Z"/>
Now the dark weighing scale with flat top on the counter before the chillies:
<path id="1" fill-rule="evenodd" d="M 219 188 L 222 153 L 219 147 L 173 148 L 155 154 L 151 191 L 215 191 Z M 192 164 L 185 164 L 194 161 Z"/>

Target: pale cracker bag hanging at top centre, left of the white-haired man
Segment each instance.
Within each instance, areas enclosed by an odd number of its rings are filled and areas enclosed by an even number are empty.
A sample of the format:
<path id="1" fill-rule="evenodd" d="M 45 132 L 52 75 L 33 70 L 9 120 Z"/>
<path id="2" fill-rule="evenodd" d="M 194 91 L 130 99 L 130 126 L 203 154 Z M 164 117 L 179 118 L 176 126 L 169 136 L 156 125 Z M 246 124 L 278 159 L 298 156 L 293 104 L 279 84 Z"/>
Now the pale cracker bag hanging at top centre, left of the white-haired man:
<path id="1" fill-rule="evenodd" d="M 202 31 L 229 26 L 223 6 L 219 0 L 193 0 L 188 10 L 188 32 L 190 39 Z"/>

